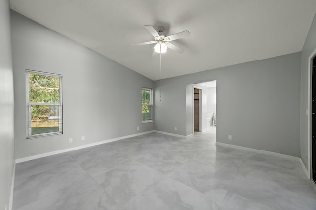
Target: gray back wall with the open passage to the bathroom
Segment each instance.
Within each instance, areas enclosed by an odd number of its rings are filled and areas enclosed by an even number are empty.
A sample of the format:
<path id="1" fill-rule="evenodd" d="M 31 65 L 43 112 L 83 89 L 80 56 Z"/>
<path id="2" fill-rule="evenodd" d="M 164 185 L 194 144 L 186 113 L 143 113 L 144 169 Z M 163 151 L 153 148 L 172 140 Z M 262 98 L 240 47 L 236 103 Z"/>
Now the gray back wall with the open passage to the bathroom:
<path id="1" fill-rule="evenodd" d="M 218 142 L 299 157 L 300 58 L 294 53 L 164 79 L 155 130 L 189 135 L 188 84 L 217 80 Z"/>

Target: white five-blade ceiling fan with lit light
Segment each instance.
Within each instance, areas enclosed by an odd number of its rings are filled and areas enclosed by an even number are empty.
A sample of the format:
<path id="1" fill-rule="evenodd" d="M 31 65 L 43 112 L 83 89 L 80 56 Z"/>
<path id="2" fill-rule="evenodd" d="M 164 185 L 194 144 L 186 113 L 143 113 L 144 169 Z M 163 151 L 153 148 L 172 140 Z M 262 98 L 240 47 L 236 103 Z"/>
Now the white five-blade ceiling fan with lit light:
<path id="1" fill-rule="evenodd" d="M 167 52 L 168 48 L 170 48 L 171 50 L 177 51 L 178 53 L 184 52 L 183 48 L 181 48 L 175 44 L 172 44 L 170 41 L 190 36 L 189 31 L 185 30 L 185 31 L 167 36 L 167 34 L 163 32 L 164 27 L 162 27 L 162 26 L 158 27 L 158 31 L 155 30 L 154 27 L 150 26 L 150 25 L 145 25 L 144 27 L 146 30 L 148 30 L 148 32 L 150 32 L 154 36 L 154 40 L 148 41 L 148 42 L 142 42 L 142 43 L 138 43 L 138 44 L 132 44 L 132 45 L 137 46 L 137 45 L 147 45 L 147 44 L 155 44 L 156 43 L 156 45 L 154 47 L 154 51 L 157 53 L 165 53 L 165 52 Z"/>

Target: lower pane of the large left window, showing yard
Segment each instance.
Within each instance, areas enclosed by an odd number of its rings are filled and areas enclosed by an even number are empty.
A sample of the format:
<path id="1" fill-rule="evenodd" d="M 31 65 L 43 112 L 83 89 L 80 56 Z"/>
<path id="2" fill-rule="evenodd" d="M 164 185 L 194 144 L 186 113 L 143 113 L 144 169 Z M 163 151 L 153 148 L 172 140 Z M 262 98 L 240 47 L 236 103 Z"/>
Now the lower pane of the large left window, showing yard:
<path id="1" fill-rule="evenodd" d="M 32 105 L 31 134 L 59 131 L 59 106 Z"/>

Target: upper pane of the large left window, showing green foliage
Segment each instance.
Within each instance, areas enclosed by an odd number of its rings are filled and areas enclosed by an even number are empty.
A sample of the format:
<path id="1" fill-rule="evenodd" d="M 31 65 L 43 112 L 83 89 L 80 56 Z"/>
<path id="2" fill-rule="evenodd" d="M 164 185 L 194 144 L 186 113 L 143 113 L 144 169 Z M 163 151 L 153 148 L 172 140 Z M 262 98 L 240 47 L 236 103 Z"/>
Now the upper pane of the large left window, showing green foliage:
<path id="1" fill-rule="evenodd" d="M 29 74 L 30 102 L 59 102 L 59 77 Z"/>

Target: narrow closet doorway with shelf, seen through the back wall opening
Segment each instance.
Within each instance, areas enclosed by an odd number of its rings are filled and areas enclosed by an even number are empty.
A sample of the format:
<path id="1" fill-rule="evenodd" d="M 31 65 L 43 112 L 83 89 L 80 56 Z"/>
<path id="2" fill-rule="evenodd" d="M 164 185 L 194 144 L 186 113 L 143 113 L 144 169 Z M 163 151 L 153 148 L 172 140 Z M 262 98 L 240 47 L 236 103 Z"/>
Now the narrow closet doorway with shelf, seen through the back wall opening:
<path id="1" fill-rule="evenodd" d="M 193 87 L 193 130 L 202 132 L 202 89 Z"/>

